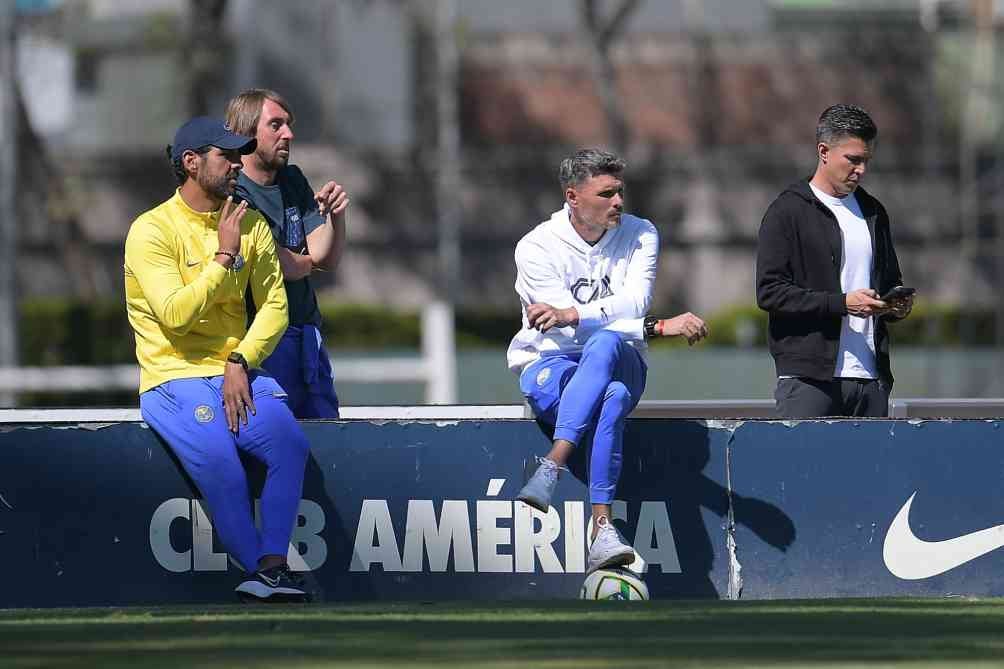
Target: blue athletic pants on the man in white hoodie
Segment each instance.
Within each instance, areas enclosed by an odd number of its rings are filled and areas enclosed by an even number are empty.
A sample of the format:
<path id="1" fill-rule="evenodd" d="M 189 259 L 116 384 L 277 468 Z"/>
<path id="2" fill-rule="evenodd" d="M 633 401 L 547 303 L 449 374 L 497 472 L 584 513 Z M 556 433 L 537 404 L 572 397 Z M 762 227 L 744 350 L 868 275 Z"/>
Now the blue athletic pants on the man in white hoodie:
<path id="1" fill-rule="evenodd" d="M 613 501 L 622 460 L 628 414 L 645 391 L 648 367 L 641 354 L 609 330 L 595 332 L 581 354 L 545 356 L 520 376 L 534 415 L 554 427 L 554 438 L 576 446 L 593 432 L 589 501 Z"/>

